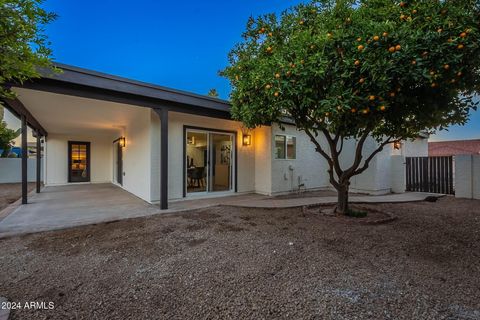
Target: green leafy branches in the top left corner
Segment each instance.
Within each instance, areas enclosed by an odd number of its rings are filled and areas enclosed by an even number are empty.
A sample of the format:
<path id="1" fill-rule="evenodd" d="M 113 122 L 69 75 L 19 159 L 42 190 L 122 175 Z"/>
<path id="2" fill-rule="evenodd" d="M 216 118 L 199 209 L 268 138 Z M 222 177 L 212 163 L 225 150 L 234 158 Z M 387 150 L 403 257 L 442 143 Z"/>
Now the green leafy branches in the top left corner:
<path id="1" fill-rule="evenodd" d="M 43 0 L 0 2 L 0 98 L 14 98 L 9 83 L 23 83 L 40 76 L 37 68 L 51 68 L 43 27 L 55 14 L 40 7 Z"/>

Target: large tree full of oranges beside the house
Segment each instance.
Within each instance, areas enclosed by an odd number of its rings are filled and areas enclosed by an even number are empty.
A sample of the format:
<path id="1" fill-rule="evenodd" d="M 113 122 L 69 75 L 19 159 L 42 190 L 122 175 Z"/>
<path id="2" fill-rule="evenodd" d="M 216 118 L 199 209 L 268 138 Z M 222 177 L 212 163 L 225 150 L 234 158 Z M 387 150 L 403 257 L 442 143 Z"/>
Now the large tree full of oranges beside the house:
<path id="1" fill-rule="evenodd" d="M 470 0 L 323 0 L 250 18 L 221 72 L 233 117 L 250 128 L 293 120 L 327 160 L 336 210 L 348 214 L 351 177 L 386 145 L 464 124 L 476 109 L 479 12 Z M 365 155 L 369 136 L 378 148 Z M 345 139 L 357 141 L 347 167 Z"/>

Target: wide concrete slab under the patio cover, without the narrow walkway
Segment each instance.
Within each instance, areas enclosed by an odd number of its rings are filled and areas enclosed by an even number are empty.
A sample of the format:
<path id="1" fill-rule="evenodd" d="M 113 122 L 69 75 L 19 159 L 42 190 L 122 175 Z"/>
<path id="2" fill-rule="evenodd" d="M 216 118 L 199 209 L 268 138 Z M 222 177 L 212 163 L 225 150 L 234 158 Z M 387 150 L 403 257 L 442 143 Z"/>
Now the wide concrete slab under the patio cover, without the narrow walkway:
<path id="1" fill-rule="evenodd" d="M 0 237 L 158 213 L 158 206 L 110 183 L 45 187 L 0 221 Z"/>

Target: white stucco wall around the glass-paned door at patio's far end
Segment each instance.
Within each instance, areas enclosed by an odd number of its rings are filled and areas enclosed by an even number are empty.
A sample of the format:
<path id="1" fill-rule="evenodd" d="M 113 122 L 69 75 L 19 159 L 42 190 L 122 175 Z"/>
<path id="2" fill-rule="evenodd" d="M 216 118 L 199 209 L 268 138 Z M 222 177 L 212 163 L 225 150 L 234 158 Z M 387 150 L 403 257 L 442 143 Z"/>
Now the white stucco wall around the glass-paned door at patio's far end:
<path id="1" fill-rule="evenodd" d="M 45 148 L 45 184 L 68 183 L 68 141 L 90 142 L 90 181 L 112 181 L 112 138 L 109 136 L 49 134 Z"/>

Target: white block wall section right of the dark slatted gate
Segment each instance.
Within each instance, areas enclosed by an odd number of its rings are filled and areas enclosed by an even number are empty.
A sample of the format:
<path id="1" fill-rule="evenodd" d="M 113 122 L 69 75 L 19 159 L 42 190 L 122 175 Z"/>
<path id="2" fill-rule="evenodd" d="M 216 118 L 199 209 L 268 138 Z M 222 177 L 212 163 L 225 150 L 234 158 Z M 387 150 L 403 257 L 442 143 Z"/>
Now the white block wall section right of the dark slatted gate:
<path id="1" fill-rule="evenodd" d="M 480 156 L 455 156 L 455 197 L 480 199 Z"/>

